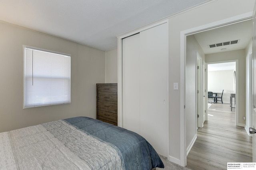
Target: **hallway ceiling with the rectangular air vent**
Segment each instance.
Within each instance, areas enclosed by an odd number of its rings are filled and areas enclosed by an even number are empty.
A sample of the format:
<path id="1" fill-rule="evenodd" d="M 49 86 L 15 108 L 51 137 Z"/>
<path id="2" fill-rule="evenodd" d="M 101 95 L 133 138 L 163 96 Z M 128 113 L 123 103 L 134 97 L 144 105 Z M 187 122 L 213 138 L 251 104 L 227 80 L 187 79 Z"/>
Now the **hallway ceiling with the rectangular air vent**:
<path id="1" fill-rule="evenodd" d="M 245 49 L 252 38 L 252 20 L 194 34 L 205 54 Z M 210 48 L 209 45 L 238 40 L 237 44 Z"/>

